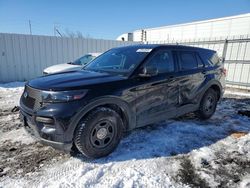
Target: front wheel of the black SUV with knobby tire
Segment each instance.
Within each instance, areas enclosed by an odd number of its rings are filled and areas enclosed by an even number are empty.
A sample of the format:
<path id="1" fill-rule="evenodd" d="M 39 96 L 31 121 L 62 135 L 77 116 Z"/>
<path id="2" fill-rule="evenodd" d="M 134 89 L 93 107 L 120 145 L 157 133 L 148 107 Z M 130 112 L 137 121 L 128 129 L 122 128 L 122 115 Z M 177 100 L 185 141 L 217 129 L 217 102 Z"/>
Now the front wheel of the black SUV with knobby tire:
<path id="1" fill-rule="evenodd" d="M 100 158 L 110 154 L 119 144 L 123 132 L 120 115 L 105 107 L 99 107 L 78 124 L 74 143 L 88 158 Z"/>

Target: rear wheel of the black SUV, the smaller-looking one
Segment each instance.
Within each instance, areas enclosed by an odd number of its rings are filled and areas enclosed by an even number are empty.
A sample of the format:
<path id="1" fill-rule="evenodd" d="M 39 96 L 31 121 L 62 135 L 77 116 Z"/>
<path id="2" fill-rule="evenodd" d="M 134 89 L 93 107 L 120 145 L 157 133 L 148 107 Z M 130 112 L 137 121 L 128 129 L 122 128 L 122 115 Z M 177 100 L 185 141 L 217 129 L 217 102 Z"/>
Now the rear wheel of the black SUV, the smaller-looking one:
<path id="1" fill-rule="evenodd" d="M 213 89 L 208 89 L 201 99 L 198 116 L 201 119 L 209 119 L 215 112 L 217 107 L 217 94 Z"/>

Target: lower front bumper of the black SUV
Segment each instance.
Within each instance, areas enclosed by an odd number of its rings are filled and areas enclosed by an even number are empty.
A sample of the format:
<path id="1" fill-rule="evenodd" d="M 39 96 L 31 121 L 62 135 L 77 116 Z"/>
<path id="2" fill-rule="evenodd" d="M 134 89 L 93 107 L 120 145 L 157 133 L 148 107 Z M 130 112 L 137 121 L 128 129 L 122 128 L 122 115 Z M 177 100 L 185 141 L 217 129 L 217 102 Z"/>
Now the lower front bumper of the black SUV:
<path id="1" fill-rule="evenodd" d="M 24 124 L 26 132 L 44 145 L 55 149 L 70 152 L 72 141 L 65 141 L 63 134 L 58 134 L 55 125 L 46 125 L 35 121 L 35 116 L 20 109 L 20 119 Z"/>

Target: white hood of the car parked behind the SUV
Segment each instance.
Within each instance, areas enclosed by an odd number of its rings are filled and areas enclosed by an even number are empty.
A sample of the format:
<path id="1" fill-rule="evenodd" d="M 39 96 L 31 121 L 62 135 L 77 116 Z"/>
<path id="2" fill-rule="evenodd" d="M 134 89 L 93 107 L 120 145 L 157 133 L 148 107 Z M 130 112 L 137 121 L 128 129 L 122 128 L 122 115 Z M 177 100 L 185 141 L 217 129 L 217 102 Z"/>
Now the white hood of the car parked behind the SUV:
<path id="1" fill-rule="evenodd" d="M 53 65 L 50 66 L 46 69 L 44 69 L 43 72 L 47 73 L 47 74 L 54 74 L 54 73 L 58 73 L 58 72 L 67 72 L 67 71 L 72 71 L 72 70 L 79 70 L 81 69 L 82 66 L 81 65 L 72 65 L 72 64 L 58 64 L 58 65 Z"/>

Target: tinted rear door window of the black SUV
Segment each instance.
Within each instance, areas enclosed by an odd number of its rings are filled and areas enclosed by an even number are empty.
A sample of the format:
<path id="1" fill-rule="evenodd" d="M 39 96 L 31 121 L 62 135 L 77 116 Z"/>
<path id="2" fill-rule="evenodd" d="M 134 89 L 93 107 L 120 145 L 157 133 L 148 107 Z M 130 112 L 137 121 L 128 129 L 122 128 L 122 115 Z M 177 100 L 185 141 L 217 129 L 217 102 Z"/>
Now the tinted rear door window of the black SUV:
<path id="1" fill-rule="evenodd" d="M 198 62 L 193 52 L 180 52 L 181 70 L 190 70 L 198 67 Z"/>

